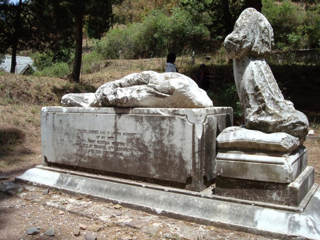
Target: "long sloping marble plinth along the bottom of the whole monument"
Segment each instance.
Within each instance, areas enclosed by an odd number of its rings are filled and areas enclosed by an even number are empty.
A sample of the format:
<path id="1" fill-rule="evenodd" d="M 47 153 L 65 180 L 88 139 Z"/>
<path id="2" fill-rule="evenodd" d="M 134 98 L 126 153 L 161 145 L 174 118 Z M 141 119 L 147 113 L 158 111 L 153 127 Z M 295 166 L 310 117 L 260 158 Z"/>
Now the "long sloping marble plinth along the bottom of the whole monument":
<path id="1" fill-rule="evenodd" d="M 231 230 L 275 238 L 291 239 L 303 236 L 320 240 L 320 189 L 317 184 L 303 212 L 272 209 L 243 204 L 250 201 L 228 202 L 226 197 L 207 198 L 197 193 L 184 194 L 157 190 L 119 182 L 76 176 L 68 173 L 33 168 L 16 181 L 38 187 L 59 188 L 69 194 L 90 194 L 94 200 L 117 202 L 133 209 L 153 214 L 195 221 Z M 168 188 L 167 188 L 168 189 Z M 313 192 L 314 191 L 314 192 Z M 179 199 L 177 204 L 176 199 Z M 255 203 L 255 202 L 252 202 Z M 267 204 L 272 205 L 272 204 Z"/>

